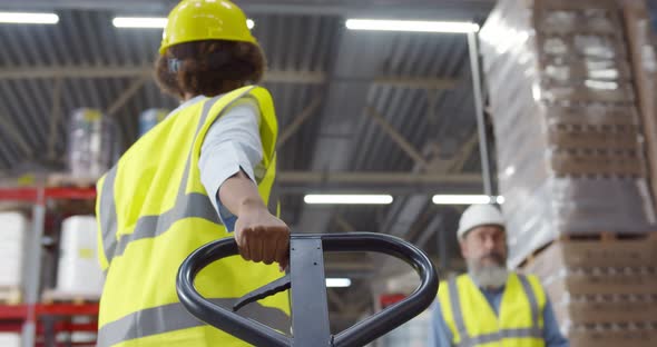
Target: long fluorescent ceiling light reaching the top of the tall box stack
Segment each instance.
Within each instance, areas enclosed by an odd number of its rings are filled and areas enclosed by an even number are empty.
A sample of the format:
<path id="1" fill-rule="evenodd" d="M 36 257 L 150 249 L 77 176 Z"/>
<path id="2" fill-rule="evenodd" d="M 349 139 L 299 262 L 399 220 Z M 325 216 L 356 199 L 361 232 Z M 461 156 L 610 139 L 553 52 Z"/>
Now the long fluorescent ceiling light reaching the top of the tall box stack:
<path id="1" fill-rule="evenodd" d="M 457 33 L 468 33 L 468 32 L 479 31 L 479 26 L 475 23 L 472 23 L 472 22 L 381 20 L 381 19 L 347 19 L 346 20 L 346 28 L 351 29 L 351 30 L 457 32 Z"/>

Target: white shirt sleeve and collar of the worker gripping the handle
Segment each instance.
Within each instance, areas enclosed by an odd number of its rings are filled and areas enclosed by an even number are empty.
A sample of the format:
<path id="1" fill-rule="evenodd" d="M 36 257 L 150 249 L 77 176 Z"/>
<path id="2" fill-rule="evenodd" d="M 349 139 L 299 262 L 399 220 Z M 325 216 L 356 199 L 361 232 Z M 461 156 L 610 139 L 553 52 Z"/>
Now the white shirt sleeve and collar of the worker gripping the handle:
<path id="1" fill-rule="evenodd" d="M 189 99 L 171 113 L 205 99 L 205 96 Z M 242 98 L 215 120 L 200 146 L 200 182 L 228 231 L 234 230 L 237 218 L 220 204 L 217 192 L 226 179 L 241 169 L 256 184 L 262 179 L 264 168 L 259 165 L 263 159 L 257 102 Z"/>

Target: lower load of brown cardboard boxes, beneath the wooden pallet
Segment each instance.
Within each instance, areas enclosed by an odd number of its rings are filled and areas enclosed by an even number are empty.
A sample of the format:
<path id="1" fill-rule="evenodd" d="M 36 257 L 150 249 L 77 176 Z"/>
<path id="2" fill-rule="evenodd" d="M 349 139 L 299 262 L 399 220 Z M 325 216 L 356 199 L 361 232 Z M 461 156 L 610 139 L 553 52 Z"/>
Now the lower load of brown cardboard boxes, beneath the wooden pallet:
<path id="1" fill-rule="evenodd" d="M 657 346 L 656 237 L 560 240 L 523 271 L 543 282 L 571 346 Z"/>

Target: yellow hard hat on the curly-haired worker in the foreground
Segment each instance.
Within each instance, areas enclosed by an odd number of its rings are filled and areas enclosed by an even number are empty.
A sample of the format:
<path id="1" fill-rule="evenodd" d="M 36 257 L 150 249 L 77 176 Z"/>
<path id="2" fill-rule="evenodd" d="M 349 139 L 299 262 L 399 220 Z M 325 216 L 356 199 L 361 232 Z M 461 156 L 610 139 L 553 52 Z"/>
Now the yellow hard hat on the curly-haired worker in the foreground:
<path id="1" fill-rule="evenodd" d="M 167 48 L 192 41 L 227 40 L 257 43 L 246 16 L 227 0 L 183 0 L 169 13 L 163 32 L 160 56 Z"/>

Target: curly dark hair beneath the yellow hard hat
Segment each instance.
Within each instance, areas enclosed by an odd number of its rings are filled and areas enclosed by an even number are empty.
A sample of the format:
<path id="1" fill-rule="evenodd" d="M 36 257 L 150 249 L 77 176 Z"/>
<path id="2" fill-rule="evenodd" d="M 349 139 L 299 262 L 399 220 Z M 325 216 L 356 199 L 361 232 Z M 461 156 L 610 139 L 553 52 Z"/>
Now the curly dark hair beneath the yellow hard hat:
<path id="1" fill-rule="evenodd" d="M 155 61 L 155 70 L 160 89 L 183 99 L 186 95 L 215 97 L 258 83 L 265 65 L 257 44 L 206 40 L 169 47 Z"/>

